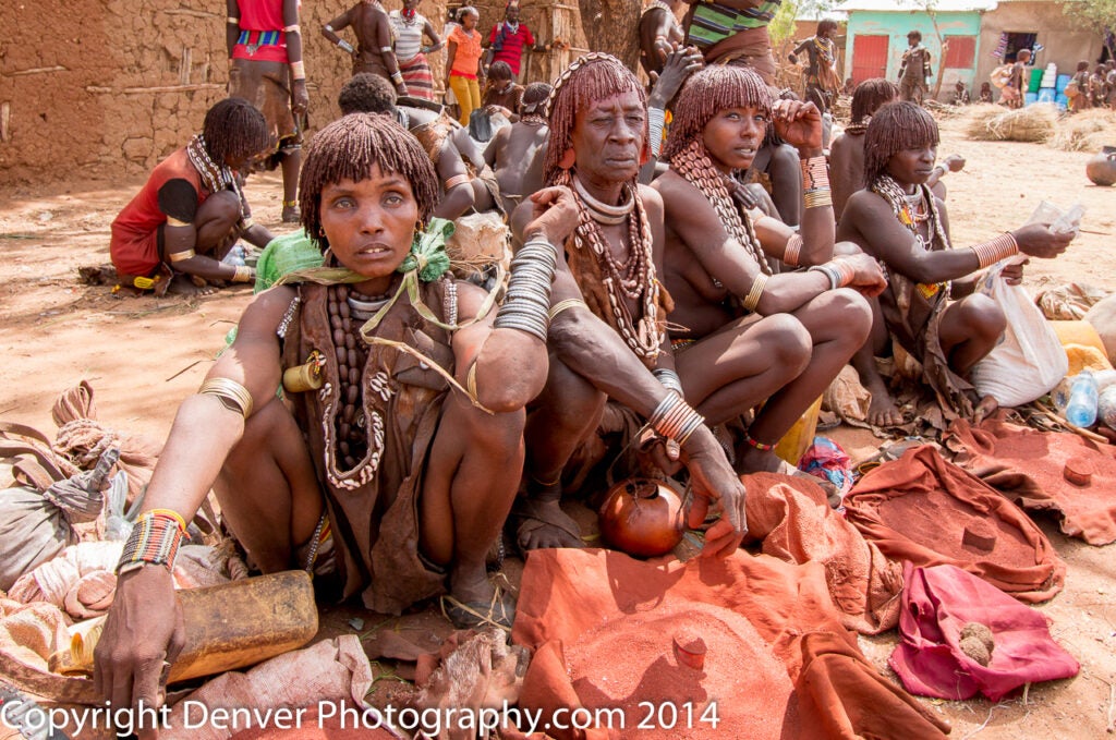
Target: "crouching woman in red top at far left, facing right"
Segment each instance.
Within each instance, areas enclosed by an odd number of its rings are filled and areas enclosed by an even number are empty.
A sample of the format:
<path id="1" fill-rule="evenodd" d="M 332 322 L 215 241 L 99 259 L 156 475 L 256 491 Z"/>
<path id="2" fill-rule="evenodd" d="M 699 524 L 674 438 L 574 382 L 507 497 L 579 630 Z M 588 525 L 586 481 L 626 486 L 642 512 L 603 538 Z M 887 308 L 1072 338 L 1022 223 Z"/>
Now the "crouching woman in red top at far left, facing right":
<path id="1" fill-rule="evenodd" d="M 272 239 L 252 222 L 238 172 L 268 145 L 263 114 L 248 100 L 210 108 L 202 133 L 155 165 L 113 221 L 108 252 L 119 283 L 163 295 L 212 292 L 208 281 L 253 281 L 251 268 L 221 260 L 241 237 L 261 249 Z"/>

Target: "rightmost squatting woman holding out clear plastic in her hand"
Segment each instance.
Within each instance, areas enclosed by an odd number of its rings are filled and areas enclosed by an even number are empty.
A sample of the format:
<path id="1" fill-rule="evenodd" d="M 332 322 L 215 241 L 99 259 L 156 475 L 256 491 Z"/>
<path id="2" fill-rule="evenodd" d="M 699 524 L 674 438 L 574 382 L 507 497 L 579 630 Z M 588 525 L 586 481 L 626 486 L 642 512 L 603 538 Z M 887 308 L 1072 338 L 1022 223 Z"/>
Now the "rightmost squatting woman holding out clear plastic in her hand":
<path id="1" fill-rule="evenodd" d="M 1006 326 L 992 299 L 972 295 L 975 273 L 1018 253 L 1057 257 L 1072 239 L 1028 224 L 983 244 L 953 249 L 945 204 L 926 185 L 937 141 L 937 124 L 921 106 L 898 102 L 879 108 L 865 134 L 867 186 L 849 198 L 837 231 L 838 239 L 855 242 L 887 271 L 882 316 L 853 363 L 872 393 L 868 422 L 876 426 L 903 423 L 874 361 L 889 354 L 892 338 L 922 363 L 923 379 L 947 415 L 979 421 L 994 411 L 995 400 L 977 398 L 965 379 Z M 1004 277 L 1018 280 L 1021 273 L 1018 267 Z"/>

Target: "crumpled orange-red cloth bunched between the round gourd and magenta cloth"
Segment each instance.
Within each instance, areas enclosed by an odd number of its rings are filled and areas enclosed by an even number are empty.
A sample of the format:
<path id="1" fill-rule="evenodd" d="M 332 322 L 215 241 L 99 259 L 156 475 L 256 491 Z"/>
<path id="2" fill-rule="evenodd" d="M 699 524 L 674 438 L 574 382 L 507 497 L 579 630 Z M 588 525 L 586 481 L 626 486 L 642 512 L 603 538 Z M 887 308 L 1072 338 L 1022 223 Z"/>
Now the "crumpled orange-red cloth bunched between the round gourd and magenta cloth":
<path id="1" fill-rule="evenodd" d="M 748 489 L 748 537 L 788 563 L 820 563 L 848 630 L 874 635 L 898 624 L 903 567 L 884 557 L 834 511 L 822 490 L 797 475 L 741 475 Z"/>

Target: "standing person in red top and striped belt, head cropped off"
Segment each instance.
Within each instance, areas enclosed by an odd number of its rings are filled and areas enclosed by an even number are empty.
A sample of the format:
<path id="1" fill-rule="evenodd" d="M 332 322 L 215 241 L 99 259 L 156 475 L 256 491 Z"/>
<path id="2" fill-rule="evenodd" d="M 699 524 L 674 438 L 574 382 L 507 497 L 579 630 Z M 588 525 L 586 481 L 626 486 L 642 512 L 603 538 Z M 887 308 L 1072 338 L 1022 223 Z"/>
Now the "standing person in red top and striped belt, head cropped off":
<path id="1" fill-rule="evenodd" d="M 229 96 L 249 100 L 268 122 L 268 166 L 282 167 L 282 220 L 298 213 L 298 169 L 310 97 L 306 92 L 298 0 L 225 0 Z"/>

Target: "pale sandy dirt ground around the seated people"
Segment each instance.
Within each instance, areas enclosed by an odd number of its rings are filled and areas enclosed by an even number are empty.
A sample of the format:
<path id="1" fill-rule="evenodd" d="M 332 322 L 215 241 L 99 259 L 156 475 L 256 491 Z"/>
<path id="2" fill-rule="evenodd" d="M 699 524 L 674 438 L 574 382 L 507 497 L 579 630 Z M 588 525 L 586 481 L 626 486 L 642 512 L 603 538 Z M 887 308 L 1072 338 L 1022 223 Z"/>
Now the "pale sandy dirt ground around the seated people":
<path id="1" fill-rule="evenodd" d="M 1113 142 L 1116 144 L 1116 141 Z M 963 155 L 963 172 L 945 179 L 953 239 L 983 241 L 1021 224 L 1043 199 L 1086 208 L 1086 232 L 1061 259 L 1032 263 L 1026 285 L 1089 282 L 1116 290 L 1108 250 L 1116 246 L 1116 188 L 1085 177 L 1090 154 L 1040 144 L 971 142 L 956 121 L 943 124 L 940 154 Z M 0 417 L 54 434 L 50 407 L 67 387 L 87 379 L 107 426 L 165 438 L 179 402 L 192 393 L 250 298 L 237 288 L 205 298 L 114 296 L 87 287 L 77 268 L 108 261 L 109 223 L 140 186 L 127 182 L 64 183 L 12 191 L 0 201 Z M 257 221 L 276 233 L 280 182 L 249 181 Z M 863 459 L 877 441 L 863 432 L 831 433 Z M 1039 608 L 1054 636 L 1081 663 L 1076 679 L 1032 686 L 1024 698 L 923 700 L 953 723 L 952 737 L 982 740 L 1098 738 L 1116 715 L 1116 565 L 1113 548 L 1095 548 L 1042 527 L 1068 564 L 1066 589 Z M 862 638 L 869 660 L 886 667 L 894 633 Z"/>

